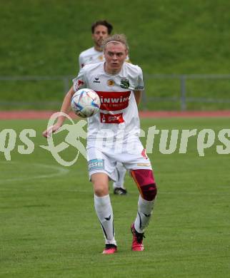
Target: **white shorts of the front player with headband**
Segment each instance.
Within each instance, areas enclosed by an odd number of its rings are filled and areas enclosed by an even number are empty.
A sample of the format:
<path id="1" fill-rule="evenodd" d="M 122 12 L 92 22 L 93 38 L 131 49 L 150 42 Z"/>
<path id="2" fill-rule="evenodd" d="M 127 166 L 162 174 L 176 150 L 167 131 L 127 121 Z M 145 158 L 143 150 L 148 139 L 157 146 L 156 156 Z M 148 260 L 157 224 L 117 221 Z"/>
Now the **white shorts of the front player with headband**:
<path id="1" fill-rule="evenodd" d="M 111 148 L 88 143 L 86 150 L 90 180 L 95 173 L 105 173 L 111 180 L 116 181 L 117 162 L 122 163 L 127 170 L 152 169 L 139 139 L 128 144 L 116 144 Z"/>

